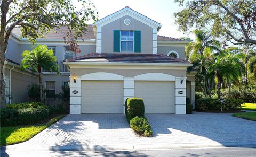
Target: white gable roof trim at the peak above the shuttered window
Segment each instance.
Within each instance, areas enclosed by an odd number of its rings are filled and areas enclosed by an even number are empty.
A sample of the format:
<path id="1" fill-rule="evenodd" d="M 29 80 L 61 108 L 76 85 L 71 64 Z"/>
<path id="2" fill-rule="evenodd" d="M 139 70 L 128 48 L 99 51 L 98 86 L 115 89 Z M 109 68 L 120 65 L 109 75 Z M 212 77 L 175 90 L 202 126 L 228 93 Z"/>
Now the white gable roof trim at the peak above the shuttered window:
<path id="1" fill-rule="evenodd" d="M 110 15 L 106 16 L 105 18 L 102 18 L 102 19 L 96 21 L 94 23 L 94 25 L 101 25 L 103 23 L 107 24 L 107 23 L 110 23 L 118 18 L 121 18 L 124 15 L 132 16 L 132 18 L 137 19 L 139 21 L 143 20 L 145 24 L 154 25 L 155 27 L 157 27 L 157 30 L 159 30 L 162 27 L 162 25 L 160 23 L 148 18 L 145 15 L 142 15 L 141 13 L 139 13 L 137 11 L 134 11 L 129 6 L 125 6 L 121 10 L 119 10 L 113 14 L 110 14 Z M 103 24 L 103 25 L 105 25 L 105 24 Z"/>

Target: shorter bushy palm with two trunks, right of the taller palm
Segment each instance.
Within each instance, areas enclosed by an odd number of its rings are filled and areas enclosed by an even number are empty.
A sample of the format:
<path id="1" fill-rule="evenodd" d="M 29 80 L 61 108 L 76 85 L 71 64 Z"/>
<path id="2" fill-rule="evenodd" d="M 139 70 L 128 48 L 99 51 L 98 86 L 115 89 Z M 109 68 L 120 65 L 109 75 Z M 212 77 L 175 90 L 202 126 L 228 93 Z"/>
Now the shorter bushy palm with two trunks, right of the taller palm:
<path id="1" fill-rule="evenodd" d="M 231 82 L 238 81 L 245 73 L 245 66 L 242 63 L 243 54 L 235 54 L 229 48 L 215 55 L 209 67 L 206 69 L 207 75 L 217 77 L 218 98 L 220 98 L 221 83 L 227 82 L 229 86 L 229 97 Z"/>

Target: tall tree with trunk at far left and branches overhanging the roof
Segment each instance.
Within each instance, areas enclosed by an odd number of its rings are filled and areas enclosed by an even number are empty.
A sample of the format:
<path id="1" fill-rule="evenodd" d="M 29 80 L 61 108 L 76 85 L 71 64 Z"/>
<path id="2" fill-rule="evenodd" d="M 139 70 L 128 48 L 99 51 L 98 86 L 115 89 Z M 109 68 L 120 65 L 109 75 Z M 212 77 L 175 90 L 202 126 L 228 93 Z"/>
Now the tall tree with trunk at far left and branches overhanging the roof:
<path id="1" fill-rule="evenodd" d="M 86 21 L 96 20 L 97 12 L 89 0 L 78 0 L 79 9 L 71 0 L 0 0 L 0 103 L 5 108 L 3 66 L 8 39 L 12 30 L 21 27 L 22 37 L 35 42 L 51 29 L 66 25 L 75 38 L 86 32 Z"/>

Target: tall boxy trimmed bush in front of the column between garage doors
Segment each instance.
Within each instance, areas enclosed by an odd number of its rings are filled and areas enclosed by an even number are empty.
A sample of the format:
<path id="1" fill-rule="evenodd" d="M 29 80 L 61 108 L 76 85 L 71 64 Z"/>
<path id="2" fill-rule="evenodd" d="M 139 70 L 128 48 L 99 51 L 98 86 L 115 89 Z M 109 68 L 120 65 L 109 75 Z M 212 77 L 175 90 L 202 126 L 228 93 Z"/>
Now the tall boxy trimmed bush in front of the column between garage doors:
<path id="1" fill-rule="evenodd" d="M 142 98 L 127 98 L 125 101 L 125 115 L 129 121 L 136 116 L 143 117 L 145 112 Z"/>

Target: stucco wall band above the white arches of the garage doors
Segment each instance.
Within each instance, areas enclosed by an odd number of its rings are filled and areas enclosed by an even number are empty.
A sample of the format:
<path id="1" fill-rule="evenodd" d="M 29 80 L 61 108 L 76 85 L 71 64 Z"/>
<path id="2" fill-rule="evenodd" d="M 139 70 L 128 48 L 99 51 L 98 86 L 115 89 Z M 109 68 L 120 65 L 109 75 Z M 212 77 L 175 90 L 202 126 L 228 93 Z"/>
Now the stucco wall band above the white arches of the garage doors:
<path id="1" fill-rule="evenodd" d="M 139 68 L 139 67 L 138 67 Z M 124 77 L 133 77 L 140 74 L 146 73 L 164 73 L 175 77 L 185 76 L 185 70 L 170 70 L 170 69 L 71 69 L 71 74 L 75 73 L 76 76 L 82 76 L 85 74 L 96 73 L 96 72 L 106 72 L 113 73 L 117 75 L 122 75 Z"/>

